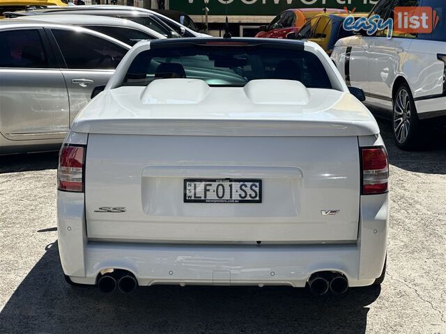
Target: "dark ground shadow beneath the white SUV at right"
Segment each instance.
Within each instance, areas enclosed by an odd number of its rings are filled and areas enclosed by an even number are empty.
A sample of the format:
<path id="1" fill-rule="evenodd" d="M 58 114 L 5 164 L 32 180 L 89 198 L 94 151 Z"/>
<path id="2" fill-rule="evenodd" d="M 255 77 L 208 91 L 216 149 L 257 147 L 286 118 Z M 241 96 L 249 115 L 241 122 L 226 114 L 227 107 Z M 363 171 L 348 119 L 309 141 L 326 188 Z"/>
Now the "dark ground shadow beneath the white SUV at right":
<path id="1" fill-rule="evenodd" d="M 415 173 L 446 174 L 446 132 L 436 131 L 433 138 L 421 151 L 403 151 L 394 143 L 392 122 L 376 119 L 381 136 L 389 153 L 389 162 L 403 170 Z"/>

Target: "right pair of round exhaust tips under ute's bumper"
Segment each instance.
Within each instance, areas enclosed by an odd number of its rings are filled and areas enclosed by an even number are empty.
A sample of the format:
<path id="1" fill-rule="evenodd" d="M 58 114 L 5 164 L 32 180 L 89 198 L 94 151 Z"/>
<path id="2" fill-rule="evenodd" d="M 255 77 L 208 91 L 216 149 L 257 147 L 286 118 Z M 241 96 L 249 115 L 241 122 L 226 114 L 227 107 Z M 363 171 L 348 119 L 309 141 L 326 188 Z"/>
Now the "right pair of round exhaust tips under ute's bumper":
<path id="1" fill-rule="evenodd" d="M 319 271 L 310 276 L 309 289 L 318 296 L 330 290 L 334 294 L 344 294 L 348 289 L 348 280 L 342 273 L 332 271 Z"/>

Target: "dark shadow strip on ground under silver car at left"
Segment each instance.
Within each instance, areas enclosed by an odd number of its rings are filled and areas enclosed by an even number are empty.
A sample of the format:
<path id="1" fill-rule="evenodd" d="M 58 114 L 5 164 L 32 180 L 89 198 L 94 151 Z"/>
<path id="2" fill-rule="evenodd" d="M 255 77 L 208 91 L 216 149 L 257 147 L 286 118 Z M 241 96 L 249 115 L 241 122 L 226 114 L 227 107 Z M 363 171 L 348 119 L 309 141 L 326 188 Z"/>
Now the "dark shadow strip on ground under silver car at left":
<path id="1" fill-rule="evenodd" d="M 0 156 L 0 174 L 56 169 L 59 152 Z"/>

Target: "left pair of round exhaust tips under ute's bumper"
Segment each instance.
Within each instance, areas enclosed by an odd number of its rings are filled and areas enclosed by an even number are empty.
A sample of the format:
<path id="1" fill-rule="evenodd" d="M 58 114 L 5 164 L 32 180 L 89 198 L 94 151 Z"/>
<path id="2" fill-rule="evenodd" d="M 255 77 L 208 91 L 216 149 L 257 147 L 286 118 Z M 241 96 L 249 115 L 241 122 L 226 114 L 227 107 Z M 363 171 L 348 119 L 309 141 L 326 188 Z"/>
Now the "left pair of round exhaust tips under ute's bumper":
<path id="1" fill-rule="evenodd" d="M 105 269 L 98 278 L 98 288 L 101 292 L 110 293 L 116 290 L 130 294 L 138 287 L 137 279 L 130 271 L 122 269 Z"/>

